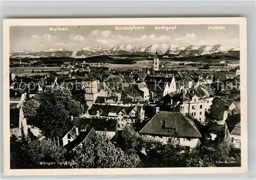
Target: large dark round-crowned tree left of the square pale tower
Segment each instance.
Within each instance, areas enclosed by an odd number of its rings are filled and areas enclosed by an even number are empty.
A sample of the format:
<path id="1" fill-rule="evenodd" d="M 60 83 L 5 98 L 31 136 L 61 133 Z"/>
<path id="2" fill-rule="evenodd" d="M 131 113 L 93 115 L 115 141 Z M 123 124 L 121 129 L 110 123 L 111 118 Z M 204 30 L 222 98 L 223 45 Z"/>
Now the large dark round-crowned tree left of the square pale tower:
<path id="1" fill-rule="evenodd" d="M 73 99 L 68 89 L 53 89 L 37 94 L 25 103 L 24 114 L 33 119 L 44 136 L 59 137 L 71 125 L 70 116 L 83 112 L 80 102 Z"/>

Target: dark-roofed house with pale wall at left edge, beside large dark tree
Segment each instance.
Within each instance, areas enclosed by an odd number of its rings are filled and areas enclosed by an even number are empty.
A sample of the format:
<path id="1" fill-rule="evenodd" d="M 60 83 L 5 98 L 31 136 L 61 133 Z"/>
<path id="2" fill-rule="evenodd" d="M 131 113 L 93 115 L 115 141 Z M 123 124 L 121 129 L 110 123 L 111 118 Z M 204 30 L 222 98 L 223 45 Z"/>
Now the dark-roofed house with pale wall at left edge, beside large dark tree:
<path id="1" fill-rule="evenodd" d="M 24 128 L 24 133 L 27 134 L 27 120 L 24 118 L 22 106 L 19 103 L 10 103 L 10 136 L 21 135 L 21 128 Z"/>

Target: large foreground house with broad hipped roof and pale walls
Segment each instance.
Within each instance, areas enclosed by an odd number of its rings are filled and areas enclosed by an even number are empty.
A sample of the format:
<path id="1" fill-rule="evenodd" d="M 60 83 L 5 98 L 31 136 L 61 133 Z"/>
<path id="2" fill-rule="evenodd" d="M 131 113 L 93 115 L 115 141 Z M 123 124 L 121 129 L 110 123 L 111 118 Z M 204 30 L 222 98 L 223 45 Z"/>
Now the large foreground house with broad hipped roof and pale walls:
<path id="1" fill-rule="evenodd" d="M 176 112 L 158 111 L 157 114 L 139 131 L 143 136 L 154 137 L 166 143 L 174 138 L 180 145 L 194 148 L 202 138 L 193 120 Z"/>

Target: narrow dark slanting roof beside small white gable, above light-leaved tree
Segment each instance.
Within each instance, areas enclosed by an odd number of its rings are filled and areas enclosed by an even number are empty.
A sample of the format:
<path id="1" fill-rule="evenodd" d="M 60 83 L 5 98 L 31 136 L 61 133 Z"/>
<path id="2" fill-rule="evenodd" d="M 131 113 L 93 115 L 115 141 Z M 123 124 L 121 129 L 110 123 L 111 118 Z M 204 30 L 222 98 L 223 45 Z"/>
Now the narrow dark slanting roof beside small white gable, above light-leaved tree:
<path id="1" fill-rule="evenodd" d="M 95 130 L 93 128 L 90 129 L 90 131 L 80 132 L 79 136 L 71 141 L 70 143 L 63 146 L 65 149 L 67 149 L 67 152 L 70 152 L 73 150 L 76 146 L 81 144 L 86 138 L 91 138 L 96 134 Z"/>

